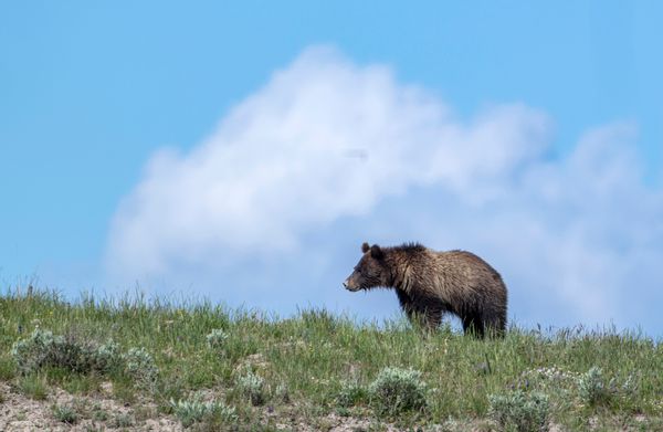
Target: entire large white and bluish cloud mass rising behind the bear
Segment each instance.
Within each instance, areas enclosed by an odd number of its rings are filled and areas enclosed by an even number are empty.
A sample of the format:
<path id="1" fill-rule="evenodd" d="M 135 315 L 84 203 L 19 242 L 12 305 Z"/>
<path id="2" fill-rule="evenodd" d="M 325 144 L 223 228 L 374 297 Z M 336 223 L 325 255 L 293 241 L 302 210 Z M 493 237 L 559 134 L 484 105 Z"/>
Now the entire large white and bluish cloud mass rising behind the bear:
<path id="1" fill-rule="evenodd" d="M 661 255 L 661 194 L 641 185 L 632 135 L 598 128 L 551 159 L 551 124 L 537 109 L 457 118 L 387 66 L 314 48 L 190 152 L 150 158 L 115 214 L 106 264 L 126 280 L 231 281 L 245 289 L 221 296 L 250 305 L 325 303 L 328 292 L 302 283 L 340 281 L 357 259 L 339 257 L 356 252 L 348 244 L 420 240 L 487 254 L 520 316 L 548 299 L 571 319 L 604 320 L 649 265 L 642 251 Z M 278 283 L 292 285 L 264 288 Z"/>

